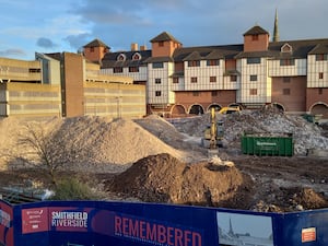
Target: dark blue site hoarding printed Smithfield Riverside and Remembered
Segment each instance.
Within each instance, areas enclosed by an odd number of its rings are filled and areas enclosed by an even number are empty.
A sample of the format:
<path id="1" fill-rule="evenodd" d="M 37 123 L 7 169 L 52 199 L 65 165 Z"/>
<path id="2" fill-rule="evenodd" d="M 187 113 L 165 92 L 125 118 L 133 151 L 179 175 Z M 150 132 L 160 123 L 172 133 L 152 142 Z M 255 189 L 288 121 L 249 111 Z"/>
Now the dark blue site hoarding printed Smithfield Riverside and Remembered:
<path id="1" fill-rule="evenodd" d="M 0 201 L 5 246 L 324 246 L 328 209 L 292 213 L 106 201 Z"/>

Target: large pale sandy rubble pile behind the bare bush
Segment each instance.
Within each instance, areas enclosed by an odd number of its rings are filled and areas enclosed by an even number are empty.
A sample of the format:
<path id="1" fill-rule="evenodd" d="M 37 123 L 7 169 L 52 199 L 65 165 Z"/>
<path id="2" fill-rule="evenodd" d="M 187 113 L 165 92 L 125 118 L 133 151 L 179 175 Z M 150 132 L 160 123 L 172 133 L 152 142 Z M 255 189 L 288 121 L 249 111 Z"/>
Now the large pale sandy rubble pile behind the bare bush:
<path id="1" fill-rule="evenodd" d="M 33 131 L 51 132 L 60 136 L 58 144 L 77 147 L 70 168 L 85 172 L 122 172 L 138 160 L 152 154 L 169 153 L 183 159 L 184 153 L 164 143 L 130 119 L 107 117 L 54 118 L 48 121 L 23 121 L 15 118 L 0 120 L 0 153 L 9 153 L 17 159 L 28 150 L 20 148 L 19 140 Z M 19 131 L 17 131 L 19 130 Z M 56 147 L 54 147 L 56 148 Z M 0 155 L 1 157 L 2 155 Z M 0 160 L 0 166 L 11 160 Z"/>

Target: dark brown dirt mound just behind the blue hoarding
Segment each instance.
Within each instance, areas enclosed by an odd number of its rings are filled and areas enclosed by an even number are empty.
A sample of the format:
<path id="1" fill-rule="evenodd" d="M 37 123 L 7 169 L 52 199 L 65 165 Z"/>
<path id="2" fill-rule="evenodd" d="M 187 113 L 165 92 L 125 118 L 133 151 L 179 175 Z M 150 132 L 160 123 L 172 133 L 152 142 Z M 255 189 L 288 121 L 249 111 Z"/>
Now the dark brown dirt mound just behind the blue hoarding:
<path id="1" fill-rule="evenodd" d="M 246 181 L 247 180 L 247 181 Z M 159 154 L 136 162 L 106 184 L 108 190 L 148 202 L 224 206 L 233 203 L 250 181 L 235 167 L 186 164 Z M 247 201 L 244 200 L 245 206 Z"/>

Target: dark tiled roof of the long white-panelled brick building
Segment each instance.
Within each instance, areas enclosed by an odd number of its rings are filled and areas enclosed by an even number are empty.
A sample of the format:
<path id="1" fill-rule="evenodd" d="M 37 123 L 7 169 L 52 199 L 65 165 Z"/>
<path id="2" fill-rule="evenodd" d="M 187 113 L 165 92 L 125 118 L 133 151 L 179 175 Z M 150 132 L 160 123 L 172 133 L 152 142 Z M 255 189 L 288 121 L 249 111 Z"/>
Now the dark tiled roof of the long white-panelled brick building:
<path id="1" fill-rule="evenodd" d="M 266 32 L 262 28 L 255 26 L 248 33 Z M 161 40 L 165 35 L 159 35 L 156 40 Z M 162 39 L 164 40 L 164 39 Z M 284 45 L 291 47 L 291 51 L 282 52 L 281 48 Z M 141 60 L 132 60 L 133 54 L 139 52 Z M 117 57 L 124 54 L 125 61 L 117 61 Z M 251 57 L 267 57 L 271 59 L 296 58 L 306 59 L 308 55 L 328 54 L 328 38 L 321 39 L 305 39 L 305 40 L 281 40 L 269 43 L 268 50 L 244 52 L 244 44 L 221 45 L 221 46 L 197 46 L 197 47 L 179 47 L 176 48 L 172 57 L 152 57 L 151 50 L 143 51 L 121 51 L 108 52 L 103 59 L 103 68 L 128 67 L 133 62 L 139 66 L 147 66 L 151 62 L 184 62 L 189 60 L 211 60 L 211 59 L 241 59 Z"/>

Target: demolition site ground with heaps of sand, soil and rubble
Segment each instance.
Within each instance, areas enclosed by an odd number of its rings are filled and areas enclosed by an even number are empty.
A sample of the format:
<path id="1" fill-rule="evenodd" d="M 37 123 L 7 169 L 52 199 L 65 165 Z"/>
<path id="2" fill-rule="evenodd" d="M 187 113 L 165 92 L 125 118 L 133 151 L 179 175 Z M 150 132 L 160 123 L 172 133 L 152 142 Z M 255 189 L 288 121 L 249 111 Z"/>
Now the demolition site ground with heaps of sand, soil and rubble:
<path id="1" fill-rule="evenodd" d="M 265 212 L 328 208 L 328 159 L 308 154 L 313 149 L 328 150 L 327 125 L 273 109 L 218 117 L 224 121 L 224 144 L 211 159 L 200 145 L 209 115 L 169 122 L 154 115 L 134 120 L 87 116 L 33 124 L 4 118 L 0 120 L 0 186 L 50 187 L 44 171 L 19 164 L 26 152 L 19 139 L 28 133 L 24 128 L 28 124 L 61 132 L 62 144 L 79 147 L 60 176 L 87 183 L 104 200 Z M 292 133 L 294 155 L 245 155 L 243 132 Z"/>

